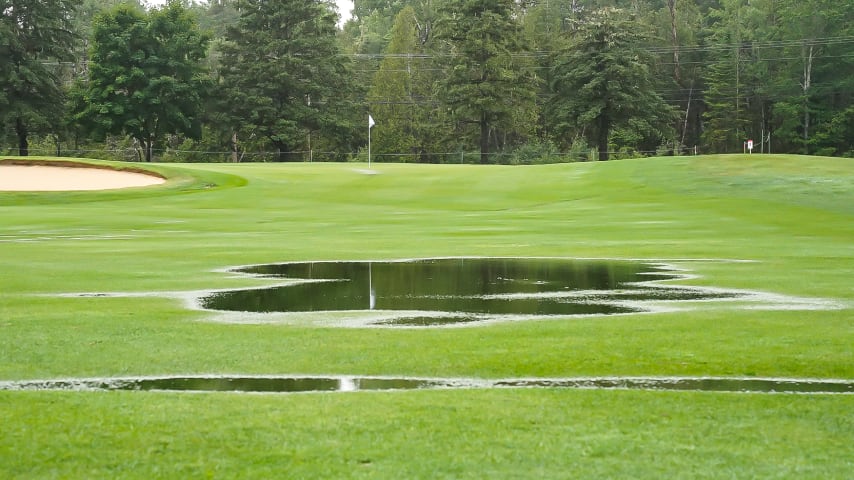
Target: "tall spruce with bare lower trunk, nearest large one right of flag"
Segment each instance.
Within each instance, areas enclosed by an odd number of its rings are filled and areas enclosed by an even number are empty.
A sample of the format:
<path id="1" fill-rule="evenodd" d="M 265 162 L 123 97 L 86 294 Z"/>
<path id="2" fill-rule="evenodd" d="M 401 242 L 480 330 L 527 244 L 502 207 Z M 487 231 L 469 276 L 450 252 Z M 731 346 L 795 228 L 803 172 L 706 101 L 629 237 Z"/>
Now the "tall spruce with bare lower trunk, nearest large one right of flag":
<path id="1" fill-rule="evenodd" d="M 513 0 L 447 0 L 435 28 L 449 56 L 438 97 L 455 136 L 476 136 L 481 163 L 492 145 L 521 143 L 536 124 L 538 79 L 517 55 L 528 50 L 517 13 Z"/>

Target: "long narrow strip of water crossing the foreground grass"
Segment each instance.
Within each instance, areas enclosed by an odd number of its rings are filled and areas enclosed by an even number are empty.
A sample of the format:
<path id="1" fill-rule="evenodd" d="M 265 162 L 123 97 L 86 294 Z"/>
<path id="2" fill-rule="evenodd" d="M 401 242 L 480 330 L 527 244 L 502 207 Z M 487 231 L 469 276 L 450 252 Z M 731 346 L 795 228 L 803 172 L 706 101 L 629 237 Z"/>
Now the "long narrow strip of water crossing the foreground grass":
<path id="1" fill-rule="evenodd" d="M 392 377 L 139 377 L 0 382 L 0 390 L 166 392 L 355 392 L 423 389 L 611 389 L 744 393 L 854 394 L 854 381 L 727 377 L 600 377 L 563 379 L 466 379 Z"/>

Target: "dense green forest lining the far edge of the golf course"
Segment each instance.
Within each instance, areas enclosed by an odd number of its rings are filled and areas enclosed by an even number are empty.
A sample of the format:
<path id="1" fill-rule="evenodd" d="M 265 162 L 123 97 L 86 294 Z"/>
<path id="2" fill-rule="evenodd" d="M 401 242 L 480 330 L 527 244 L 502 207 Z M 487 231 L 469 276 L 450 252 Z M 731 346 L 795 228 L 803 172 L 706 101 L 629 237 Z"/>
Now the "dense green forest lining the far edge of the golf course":
<path id="1" fill-rule="evenodd" d="M 0 11 L 6 154 L 524 164 L 750 141 L 854 156 L 850 1 L 356 0 L 343 23 L 332 0 Z"/>

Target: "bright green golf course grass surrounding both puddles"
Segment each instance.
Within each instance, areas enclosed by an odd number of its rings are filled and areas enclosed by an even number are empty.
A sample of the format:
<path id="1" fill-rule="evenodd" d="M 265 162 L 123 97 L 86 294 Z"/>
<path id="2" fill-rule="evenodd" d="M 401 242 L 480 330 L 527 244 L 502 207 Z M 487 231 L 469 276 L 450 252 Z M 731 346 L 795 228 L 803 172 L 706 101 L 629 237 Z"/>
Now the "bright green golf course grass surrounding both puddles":
<path id="1" fill-rule="evenodd" d="M 854 378 L 851 160 L 153 168 L 172 180 L 0 193 L 0 379 Z M 170 298 L 56 296 L 258 285 L 222 273 L 251 263 L 464 255 L 683 259 L 700 278 L 682 283 L 842 308 L 395 330 L 218 324 Z M 0 477 L 846 478 L 852 412 L 850 395 L 0 392 Z"/>

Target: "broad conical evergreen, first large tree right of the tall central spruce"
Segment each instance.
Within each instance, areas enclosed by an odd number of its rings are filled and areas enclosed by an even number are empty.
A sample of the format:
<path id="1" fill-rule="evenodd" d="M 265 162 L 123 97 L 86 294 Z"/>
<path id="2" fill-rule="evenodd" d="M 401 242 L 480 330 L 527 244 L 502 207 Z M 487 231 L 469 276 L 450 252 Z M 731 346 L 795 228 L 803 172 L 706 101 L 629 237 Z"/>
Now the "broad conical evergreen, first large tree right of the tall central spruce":
<path id="1" fill-rule="evenodd" d="M 638 24 L 622 10 L 602 9 L 576 23 L 551 72 L 548 118 L 563 143 L 584 137 L 599 160 L 608 160 L 616 128 L 661 142 L 672 138 L 674 112 L 655 91 L 653 58 L 644 43 Z"/>

